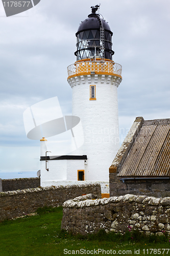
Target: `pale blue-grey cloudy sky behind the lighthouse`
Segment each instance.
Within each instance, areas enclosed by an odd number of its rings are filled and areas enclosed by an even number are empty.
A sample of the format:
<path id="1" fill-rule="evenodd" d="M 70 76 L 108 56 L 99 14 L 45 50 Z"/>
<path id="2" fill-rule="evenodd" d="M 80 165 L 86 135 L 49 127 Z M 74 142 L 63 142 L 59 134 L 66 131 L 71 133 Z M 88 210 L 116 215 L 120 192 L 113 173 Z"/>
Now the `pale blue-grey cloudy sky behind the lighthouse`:
<path id="1" fill-rule="evenodd" d="M 113 31 L 113 60 L 123 67 L 118 88 L 122 140 L 137 116 L 145 120 L 170 118 L 170 2 L 100 3 L 100 13 Z M 11 17 L 6 17 L 0 3 L 1 172 L 39 169 L 39 141 L 27 138 L 23 112 L 58 96 L 63 114 L 71 114 L 67 66 L 76 61 L 75 33 L 90 14 L 90 6 L 100 3 L 41 0 L 34 8 Z"/>

